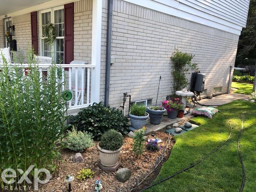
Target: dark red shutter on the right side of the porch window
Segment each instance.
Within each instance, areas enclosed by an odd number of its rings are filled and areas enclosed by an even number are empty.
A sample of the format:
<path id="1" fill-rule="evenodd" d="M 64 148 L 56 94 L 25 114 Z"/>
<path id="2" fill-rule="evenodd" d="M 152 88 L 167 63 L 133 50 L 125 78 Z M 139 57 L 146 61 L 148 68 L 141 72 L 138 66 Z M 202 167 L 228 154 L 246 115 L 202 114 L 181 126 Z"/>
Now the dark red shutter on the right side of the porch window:
<path id="1" fill-rule="evenodd" d="M 64 63 L 74 60 L 74 3 L 64 5 Z"/>

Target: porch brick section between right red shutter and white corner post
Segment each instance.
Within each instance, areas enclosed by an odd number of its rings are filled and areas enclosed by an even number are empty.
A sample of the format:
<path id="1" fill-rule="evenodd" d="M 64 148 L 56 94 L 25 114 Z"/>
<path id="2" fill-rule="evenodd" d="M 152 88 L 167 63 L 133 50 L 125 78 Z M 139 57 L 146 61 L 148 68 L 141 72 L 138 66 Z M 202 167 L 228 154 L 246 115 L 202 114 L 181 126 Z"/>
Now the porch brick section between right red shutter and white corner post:
<path id="1" fill-rule="evenodd" d="M 92 0 L 74 2 L 74 60 L 91 64 Z"/>

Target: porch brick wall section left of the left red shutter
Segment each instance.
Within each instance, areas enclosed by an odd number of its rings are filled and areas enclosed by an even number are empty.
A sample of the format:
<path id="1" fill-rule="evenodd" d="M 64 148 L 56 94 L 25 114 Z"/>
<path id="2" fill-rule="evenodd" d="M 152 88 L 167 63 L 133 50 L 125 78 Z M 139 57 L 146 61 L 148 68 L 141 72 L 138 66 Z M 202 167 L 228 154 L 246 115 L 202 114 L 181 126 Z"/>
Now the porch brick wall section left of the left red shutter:
<path id="1" fill-rule="evenodd" d="M 32 46 L 30 13 L 13 17 L 12 25 L 15 26 L 15 36 L 12 38 L 17 41 L 17 52 L 15 54 L 24 60 L 27 48 Z"/>

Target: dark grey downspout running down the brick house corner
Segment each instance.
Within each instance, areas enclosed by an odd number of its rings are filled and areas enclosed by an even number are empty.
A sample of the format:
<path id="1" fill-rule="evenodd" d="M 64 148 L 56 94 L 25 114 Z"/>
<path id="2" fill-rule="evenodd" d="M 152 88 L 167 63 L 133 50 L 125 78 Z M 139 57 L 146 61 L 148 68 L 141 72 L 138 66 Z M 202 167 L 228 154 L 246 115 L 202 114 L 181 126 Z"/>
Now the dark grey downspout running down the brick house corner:
<path id="1" fill-rule="evenodd" d="M 107 28 L 106 74 L 105 74 L 106 77 L 105 77 L 105 99 L 104 99 L 104 105 L 106 107 L 108 106 L 108 101 L 109 101 L 112 13 L 113 13 L 113 0 L 108 0 L 108 28 Z"/>

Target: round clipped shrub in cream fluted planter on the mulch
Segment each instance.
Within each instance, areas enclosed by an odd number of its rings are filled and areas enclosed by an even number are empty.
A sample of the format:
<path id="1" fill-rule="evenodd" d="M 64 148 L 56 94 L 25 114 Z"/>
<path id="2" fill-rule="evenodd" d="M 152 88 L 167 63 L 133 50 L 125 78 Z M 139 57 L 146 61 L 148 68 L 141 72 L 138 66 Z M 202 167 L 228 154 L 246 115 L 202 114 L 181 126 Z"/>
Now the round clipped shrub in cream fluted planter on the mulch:
<path id="1" fill-rule="evenodd" d="M 116 130 L 109 130 L 101 136 L 98 143 L 100 164 L 105 167 L 113 167 L 118 163 L 120 151 L 122 150 L 123 136 Z"/>

